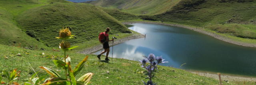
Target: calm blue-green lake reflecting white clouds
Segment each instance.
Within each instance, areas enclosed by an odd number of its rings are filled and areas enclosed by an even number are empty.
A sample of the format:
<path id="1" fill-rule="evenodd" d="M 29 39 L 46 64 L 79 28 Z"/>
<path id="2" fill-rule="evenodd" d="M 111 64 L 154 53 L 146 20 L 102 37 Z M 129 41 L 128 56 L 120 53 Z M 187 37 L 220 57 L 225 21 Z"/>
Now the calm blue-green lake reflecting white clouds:
<path id="1" fill-rule="evenodd" d="M 146 34 L 146 38 L 115 45 L 114 58 L 138 61 L 152 53 L 169 62 L 162 66 L 256 76 L 256 48 L 226 43 L 185 28 L 146 23 L 131 25 L 134 26 L 129 29 Z M 112 47 L 110 49 L 109 57 L 112 56 Z"/>

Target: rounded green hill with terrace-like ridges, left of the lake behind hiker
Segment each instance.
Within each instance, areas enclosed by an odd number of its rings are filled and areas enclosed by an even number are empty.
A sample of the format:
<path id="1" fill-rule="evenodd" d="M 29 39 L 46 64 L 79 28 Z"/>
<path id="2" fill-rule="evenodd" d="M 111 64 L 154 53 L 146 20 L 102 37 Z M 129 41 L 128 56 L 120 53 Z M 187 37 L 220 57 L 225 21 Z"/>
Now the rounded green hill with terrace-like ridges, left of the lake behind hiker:
<path id="1" fill-rule="evenodd" d="M 72 44 L 83 43 L 98 37 L 98 33 L 110 27 L 111 34 L 130 33 L 130 31 L 116 19 L 95 8 L 90 4 L 53 3 L 33 8 L 20 14 L 16 19 L 24 31 L 29 32 L 49 46 L 57 46 L 59 42 L 55 37 L 64 27 L 71 27 Z"/>

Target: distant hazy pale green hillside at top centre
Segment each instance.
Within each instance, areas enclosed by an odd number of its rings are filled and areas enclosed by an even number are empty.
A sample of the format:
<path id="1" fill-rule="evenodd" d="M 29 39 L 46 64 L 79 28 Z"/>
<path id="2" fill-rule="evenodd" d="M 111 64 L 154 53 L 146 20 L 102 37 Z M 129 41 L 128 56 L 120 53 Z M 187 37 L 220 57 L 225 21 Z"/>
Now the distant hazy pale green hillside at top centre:
<path id="1" fill-rule="evenodd" d="M 87 2 L 95 6 L 102 6 L 110 9 L 120 9 L 135 15 L 155 15 L 164 13 L 180 0 L 96 0 Z"/>

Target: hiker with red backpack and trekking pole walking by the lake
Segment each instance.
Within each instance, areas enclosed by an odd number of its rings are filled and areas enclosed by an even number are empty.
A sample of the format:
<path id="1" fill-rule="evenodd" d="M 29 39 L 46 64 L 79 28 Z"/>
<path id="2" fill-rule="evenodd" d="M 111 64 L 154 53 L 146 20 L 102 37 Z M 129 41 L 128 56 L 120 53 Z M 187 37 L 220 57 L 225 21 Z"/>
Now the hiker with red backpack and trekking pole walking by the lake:
<path id="1" fill-rule="evenodd" d="M 102 44 L 103 44 L 103 48 L 104 48 L 104 51 L 102 51 L 97 57 L 98 57 L 98 59 L 100 60 L 100 56 L 102 55 L 102 54 L 104 54 L 104 53 L 106 53 L 107 52 L 107 54 L 106 54 L 106 58 L 105 58 L 105 60 L 106 61 L 108 61 L 109 59 L 108 59 L 108 54 L 109 54 L 109 44 L 108 44 L 108 42 L 109 41 L 114 41 L 114 39 L 112 39 L 112 40 L 109 40 L 109 38 L 108 38 L 108 32 L 110 31 L 110 28 L 106 28 L 106 31 L 105 32 L 103 32 L 103 34 L 104 34 L 104 42 L 102 42 Z M 100 35 L 101 35 L 102 33 L 100 33 Z M 99 36 L 100 36 L 99 35 Z"/>

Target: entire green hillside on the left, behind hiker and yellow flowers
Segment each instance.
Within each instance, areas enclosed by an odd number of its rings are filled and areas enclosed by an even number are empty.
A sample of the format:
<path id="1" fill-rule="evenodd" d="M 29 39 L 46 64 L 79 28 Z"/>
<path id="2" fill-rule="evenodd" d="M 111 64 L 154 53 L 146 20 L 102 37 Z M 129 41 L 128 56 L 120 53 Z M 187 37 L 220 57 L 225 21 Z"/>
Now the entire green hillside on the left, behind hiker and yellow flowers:
<path id="1" fill-rule="evenodd" d="M 0 0 L 0 43 L 36 49 L 58 46 L 58 31 L 70 27 L 72 44 L 95 40 L 110 27 L 111 34 L 131 33 L 91 4 L 66 0 Z"/>

